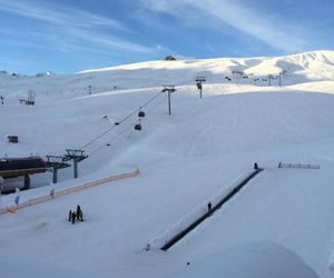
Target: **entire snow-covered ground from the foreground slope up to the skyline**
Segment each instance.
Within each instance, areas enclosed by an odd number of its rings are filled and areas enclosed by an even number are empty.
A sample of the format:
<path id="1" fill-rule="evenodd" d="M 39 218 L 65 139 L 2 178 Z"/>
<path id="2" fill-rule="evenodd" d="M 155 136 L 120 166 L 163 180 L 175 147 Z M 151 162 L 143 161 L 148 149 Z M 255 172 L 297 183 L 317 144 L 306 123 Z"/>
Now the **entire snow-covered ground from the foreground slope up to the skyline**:
<path id="1" fill-rule="evenodd" d="M 198 76 L 206 78 L 203 99 Z M 171 85 L 169 116 L 161 90 Z M 20 103 L 29 90 L 35 106 Z M 79 179 L 72 168 L 59 170 L 56 190 L 140 169 L 132 179 L 0 215 L 1 274 L 333 277 L 333 51 L 151 61 L 70 76 L 1 71 L 0 157 L 84 149 L 89 157 L 79 163 Z M 146 113 L 140 121 L 139 111 Z M 10 135 L 19 143 L 9 143 Z M 320 169 L 278 168 L 279 161 Z M 261 175 L 160 250 L 254 162 Z M 51 176 L 33 175 L 20 199 L 48 195 Z M 6 180 L 2 189 L 21 185 Z M 0 207 L 13 206 L 14 197 L 2 196 Z M 71 225 L 67 215 L 78 203 L 85 221 Z"/>

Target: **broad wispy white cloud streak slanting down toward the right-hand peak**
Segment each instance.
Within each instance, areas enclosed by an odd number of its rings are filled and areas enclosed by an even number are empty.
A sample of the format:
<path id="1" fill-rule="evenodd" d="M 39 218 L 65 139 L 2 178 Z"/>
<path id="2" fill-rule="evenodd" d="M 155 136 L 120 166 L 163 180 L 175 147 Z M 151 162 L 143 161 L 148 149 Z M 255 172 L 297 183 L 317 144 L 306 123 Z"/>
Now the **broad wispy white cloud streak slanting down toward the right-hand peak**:
<path id="1" fill-rule="evenodd" d="M 259 14 L 246 4 L 230 0 L 141 0 L 146 9 L 169 13 L 185 24 L 217 28 L 228 24 L 266 44 L 284 51 L 303 49 L 306 44 L 301 29 L 267 14 Z M 205 18 L 205 20 L 204 20 Z"/>

